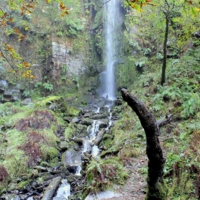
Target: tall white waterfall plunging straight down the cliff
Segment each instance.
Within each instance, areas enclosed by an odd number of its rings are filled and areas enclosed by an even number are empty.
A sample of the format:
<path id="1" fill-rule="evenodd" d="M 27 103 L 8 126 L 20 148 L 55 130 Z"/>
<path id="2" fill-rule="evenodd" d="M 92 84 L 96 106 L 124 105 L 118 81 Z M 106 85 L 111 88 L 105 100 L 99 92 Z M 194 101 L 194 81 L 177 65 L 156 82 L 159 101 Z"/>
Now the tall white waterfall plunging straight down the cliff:
<path id="1" fill-rule="evenodd" d="M 105 0 L 104 0 L 105 1 Z M 105 71 L 101 74 L 102 96 L 109 100 L 116 98 L 115 63 L 117 60 L 117 35 L 119 34 L 120 9 L 119 0 L 104 2 L 104 64 Z"/>

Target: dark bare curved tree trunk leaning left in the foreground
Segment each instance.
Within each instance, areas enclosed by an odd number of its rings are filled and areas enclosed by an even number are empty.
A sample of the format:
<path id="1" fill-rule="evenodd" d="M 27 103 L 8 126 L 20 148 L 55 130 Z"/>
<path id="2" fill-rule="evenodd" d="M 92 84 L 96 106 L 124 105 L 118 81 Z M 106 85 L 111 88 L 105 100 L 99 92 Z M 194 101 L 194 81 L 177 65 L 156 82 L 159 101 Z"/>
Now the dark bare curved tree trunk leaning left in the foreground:
<path id="1" fill-rule="evenodd" d="M 167 190 L 163 184 L 163 168 L 165 159 L 160 147 L 158 135 L 159 127 L 151 112 L 145 104 L 131 95 L 126 89 L 121 90 L 124 101 L 133 109 L 140 119 L 140 122 L 146 133 L 146 153 L 148 161 L 148 193 L 147 200 L 164 200 L 166 199 Z"/>

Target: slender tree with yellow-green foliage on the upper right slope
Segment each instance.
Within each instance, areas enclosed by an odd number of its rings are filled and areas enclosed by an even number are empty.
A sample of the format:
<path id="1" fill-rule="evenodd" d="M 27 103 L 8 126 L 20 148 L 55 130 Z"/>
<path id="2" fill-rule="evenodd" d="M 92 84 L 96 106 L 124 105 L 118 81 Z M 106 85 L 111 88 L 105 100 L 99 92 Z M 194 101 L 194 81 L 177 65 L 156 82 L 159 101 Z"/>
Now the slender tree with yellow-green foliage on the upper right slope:
<path id="1" fill-rule="evenodd" d="M 166 82 L 166 68 L 167 68 L 167 50 L 168 50 L 168 42 L 170 37 L 176 37 L 176 41 L 174 41 L 173 46 L 177 46 L 178 44 L 186 44 L 188 42 L 188 38 L 192 36 L 195 31 L 197 31 L 197 27 L 199 24 L 198 16 L 200 13 L 199 8 L 199 1 L 198 0 L 126 0 L 128 5 L 131 6 L 133 9 L 138 11 L 142 11 L 142 7 L 144 5 L 151 5 L 154 6 L 152 11 L 149 12 L 149 15 L 144 15 L 141 19 L 142 27 L 147 26 L 149 23 L 153 29 L 157 28 L 157 33 L 155 34 L 155 30 L 153 34 L 151 33 L 153 30 L 149 30 L 144 32 L 143 36 L 152 37 L 151 41 L 158 40 L 158 37 L 163 37 L 163 47 L 162 47 L 162 73 L 161 73 L 161 85 Z M 150 9 L 150 8 L 149 8 Z M 157 10 L 157 11 L 156 11 Z M 155 16 L 155 12 L 158 12 L 157 16 Z M 160 13 L 161 12 L 161 13 Z M 146 14 L 146 13 L 145 13 Z M 150 15 L 154 16 L 153 20 L 150 19 Z M 144 21 L 147 21 L 145 24 Z M 156 23 L 159 23 L 159 27 L 156 26 Z M 161 22 L 164 21 L 164 24 Z M 187 21 L 187 22 L 186 22 Z M 155 25 L 154 25 L 155 24 Z M 165 25 L 164 27 L 160 27 L 160 25 Z M 176 25 L 176 26 L 174 26 Z M 193 31 L 193 32 L 192 32 Z M 171 34 L 170 34 L 171 32 Z M 163 36 L 162 36 L 163 35 Z M 160 40 L 160 39 L 159 39 Z M 184 42 L 183 42 L 184 41 Z M 159 42 L 157 42 L 159 43 Z M 172 45 L 172 44 L 170 44 Z M 177 48 L 176 47 L 176 48 Z"/>

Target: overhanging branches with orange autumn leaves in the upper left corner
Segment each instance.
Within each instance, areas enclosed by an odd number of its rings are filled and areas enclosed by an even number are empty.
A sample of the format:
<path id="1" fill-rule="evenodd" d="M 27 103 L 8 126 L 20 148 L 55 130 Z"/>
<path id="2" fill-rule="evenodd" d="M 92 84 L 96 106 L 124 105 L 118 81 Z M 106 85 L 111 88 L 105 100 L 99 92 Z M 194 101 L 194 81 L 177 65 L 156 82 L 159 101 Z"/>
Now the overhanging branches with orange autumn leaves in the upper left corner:
<path id="1" fill-rule="evenodd" d="M 53 5 L 58 3 L 61 16 L 68 15 L 68 8 L 60 0 L 46 0 L 46 4 Z M 30 70 L 31 63 L 24 60 L 19 50 L 15 49 L 9 42 L 5 40 L 11 35 L 15 35 L 18 42 L 27 39 L 27 31 L 29 30 L 29 18 L 39 4 L 39 0 L 8 0 L 0 2 L 0 59 L 7 62 L 11 68 L 9 72 L 13 72 L 16 77 L 35 78 Z M 21 24 L 20 28 L 17 24 Z"/>

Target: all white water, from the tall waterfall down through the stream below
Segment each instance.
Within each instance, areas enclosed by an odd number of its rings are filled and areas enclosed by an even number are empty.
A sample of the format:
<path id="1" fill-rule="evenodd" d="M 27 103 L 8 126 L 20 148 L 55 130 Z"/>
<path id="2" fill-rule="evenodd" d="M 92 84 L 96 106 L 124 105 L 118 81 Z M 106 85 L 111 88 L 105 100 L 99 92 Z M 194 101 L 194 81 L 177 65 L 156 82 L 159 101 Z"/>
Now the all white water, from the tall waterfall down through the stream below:
<path id="1" fill-rule="evenodd" d="M 100 88 L 100 97 L 103 97 L 104 100 L 109 101 L 109 104 L 104 105 L 104 109 L 107 108 L 107 117 L 108 121 L 105 131 L 109 131 L 109 128 L 112 125 L 112 112 L 111 107 L 113 106 L 113 101 L 116 99 L 116 88 L 115 88 L 115 64 L 118 59 L 118 25 L 120 20 L 120 0 L 104 0 L 103 2 L 103 12 L 104 12 L 104 64 L 105 71 L 100 74 L 101 79 L 101 88 Z M 5 84 L 5 83 L 1 83 Z M 93 110 L 93 113 L 101 114 L 101 109 L 98 107 L 96 110 Z M 105 119 L 104 119 L 105 120 Z M 82 147 L 77 155 L 73 156 L 73 152 L 68 152 L 67 159 L 69 163 L 72 163 L 71 167 L 74 167 L 75 172 L 74 176 L 82 177 L 82 156 L 85 153 L 97 157 L 100 154 L 100 149 L 97 145 L 94 144 L 94 140 L 100 132 L 100 125 L 102 124 L 101 119 L 93 119 L 92 124 L 87 128 L 87 136 L 82 139 Z M 57 191 L 54 194 L 53 200 L 68 200 L 72 197 L 73 189 L 72 185 L 68 182 L 67 179 L 62 179 L 61 183 L 58 186 Z M 30 195 L 29 195 L 30 196 Z M 88 196 L 87 200 L 96 200 L 102 198 L 112 198 L 114 196 L 119 196 L 119 194 L 113 193 L 112 191 L 104 191 L 94 196 Z M 32 200 L 33 198 L 28 198 Z"/>

